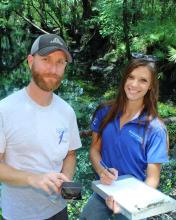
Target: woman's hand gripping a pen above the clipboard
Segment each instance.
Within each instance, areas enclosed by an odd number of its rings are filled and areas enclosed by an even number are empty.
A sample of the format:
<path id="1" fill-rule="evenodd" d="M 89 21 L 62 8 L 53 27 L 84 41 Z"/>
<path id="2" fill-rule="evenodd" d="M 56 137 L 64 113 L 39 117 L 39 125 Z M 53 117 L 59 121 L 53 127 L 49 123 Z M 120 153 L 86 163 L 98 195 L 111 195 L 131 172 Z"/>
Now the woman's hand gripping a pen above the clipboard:
<path id="1" fill-rule="evenodd" d="M 100 174 L 100 182 L 105 185 L 110 185 L 118 177 L 118 171 L 114 168 L 109 168 L 111 172 L 107 169 L 103 169 Z"/>

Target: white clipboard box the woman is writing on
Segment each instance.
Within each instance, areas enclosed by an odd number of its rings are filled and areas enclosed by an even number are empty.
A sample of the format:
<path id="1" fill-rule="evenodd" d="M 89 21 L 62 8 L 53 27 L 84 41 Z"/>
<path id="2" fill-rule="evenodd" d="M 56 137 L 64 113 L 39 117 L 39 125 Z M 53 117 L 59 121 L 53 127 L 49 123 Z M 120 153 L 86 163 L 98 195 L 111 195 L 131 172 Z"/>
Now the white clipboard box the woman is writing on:
<path id="1" fill-rule="evenodd" d="M 104 199 L 108 195 L 113 196 L 121 213 L 130 220 L 176 210 L 176 200 L 131 175 L 120 176 L 111 185 L 103 185 L 99 180 L 93 181 L 92 189 Z"/>

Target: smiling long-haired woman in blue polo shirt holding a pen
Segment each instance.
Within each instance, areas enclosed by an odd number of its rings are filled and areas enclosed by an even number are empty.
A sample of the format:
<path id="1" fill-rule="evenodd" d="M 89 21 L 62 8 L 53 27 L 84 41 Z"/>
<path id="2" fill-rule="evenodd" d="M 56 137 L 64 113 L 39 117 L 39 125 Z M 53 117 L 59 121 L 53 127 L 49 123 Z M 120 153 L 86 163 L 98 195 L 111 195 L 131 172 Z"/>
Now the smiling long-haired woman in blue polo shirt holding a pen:
<path id="1" fill-rule="evenodd" d="M 101 105 L 92 121 L 90 158 L 103 184 L 130 174 L 157 188 L 167 159 L 167 131 L 157 112 L 158 80 L 153 62 L 135 59 L 127 66 L 115 101 Z M 103 161 L 111 173 L 101 166 Z M 109 208 L 108 208 L 109 207 Z M 113 198 L 93 194 L 80 219 L 108 220 L 119 212 Z M 116 214 L 115 219 L 126 219 Z"/>

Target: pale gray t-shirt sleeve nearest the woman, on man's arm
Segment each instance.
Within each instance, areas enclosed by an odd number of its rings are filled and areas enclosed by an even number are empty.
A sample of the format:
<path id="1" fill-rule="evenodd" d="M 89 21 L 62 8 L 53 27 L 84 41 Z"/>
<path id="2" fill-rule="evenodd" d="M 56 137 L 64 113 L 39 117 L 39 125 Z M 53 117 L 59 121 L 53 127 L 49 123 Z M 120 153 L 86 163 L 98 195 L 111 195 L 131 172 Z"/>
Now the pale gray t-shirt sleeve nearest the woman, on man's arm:
<path id="1" fill-rule="evenodd" d="M 69 136 L 69 150 L 75 150 L 77 148 L 81 147 L 81 140 L 80 140 L 80 135 L 79 135 L 79 130 L 78 130 L 78 125 L 77 125 L 77 119 L 75 112 L 72 114 L 72 118 L 70 121 L 70 136 Z"/>

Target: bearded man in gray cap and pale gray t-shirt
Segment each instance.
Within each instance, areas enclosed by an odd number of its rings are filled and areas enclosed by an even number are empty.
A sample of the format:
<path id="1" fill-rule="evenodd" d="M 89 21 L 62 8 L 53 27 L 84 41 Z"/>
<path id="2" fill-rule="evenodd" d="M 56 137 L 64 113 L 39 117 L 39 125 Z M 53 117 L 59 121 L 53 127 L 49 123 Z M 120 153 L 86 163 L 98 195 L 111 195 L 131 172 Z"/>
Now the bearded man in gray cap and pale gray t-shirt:
<path id="1" fill-rule="evenodd" d="M 65 220 L 60 195 L 81 146 L 73 109 L 53 93 L 71 55 L 55 34 L 39 36 L 28 64 L 29 85 L 0 102 L 0 182 L 6 220 Z M 53 198 L 54 196 L 54 198 Z"/>

